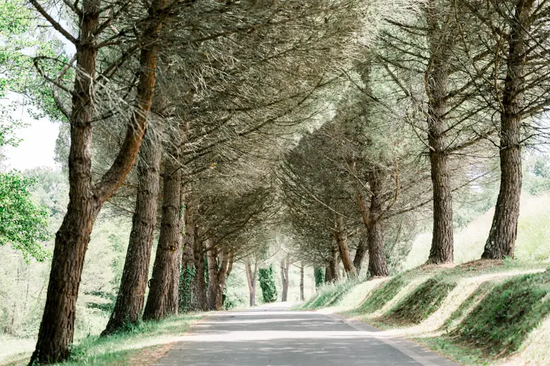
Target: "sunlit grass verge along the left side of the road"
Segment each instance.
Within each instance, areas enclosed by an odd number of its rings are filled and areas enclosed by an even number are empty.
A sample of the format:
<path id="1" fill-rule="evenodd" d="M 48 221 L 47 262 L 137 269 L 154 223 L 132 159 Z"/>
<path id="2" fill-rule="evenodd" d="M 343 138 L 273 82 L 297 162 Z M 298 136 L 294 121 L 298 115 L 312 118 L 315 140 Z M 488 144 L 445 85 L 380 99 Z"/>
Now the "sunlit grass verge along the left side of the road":
<path id="1" fill-rule="evenodd" d="M 112 336 L 89 336 L 75 345 L 71 358 L 63 365 L 152 365 L 205 316 L 182 314 L 160 322 L 140 323 Z M 5 349 L 0 365 L 28 364 L 30 352 L 17 353 L 17 348 L 9 351 Z"/>

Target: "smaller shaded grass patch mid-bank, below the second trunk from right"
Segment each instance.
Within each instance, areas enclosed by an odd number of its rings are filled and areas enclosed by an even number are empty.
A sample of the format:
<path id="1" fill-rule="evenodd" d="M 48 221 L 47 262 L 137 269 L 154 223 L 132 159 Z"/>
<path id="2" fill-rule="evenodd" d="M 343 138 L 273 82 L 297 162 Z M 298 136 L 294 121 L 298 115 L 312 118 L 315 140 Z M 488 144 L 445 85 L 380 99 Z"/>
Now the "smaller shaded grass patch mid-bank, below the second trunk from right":
<path id="1" fill-rule="evenodd" d="M 381 321 L 393 325 L 421 323 L 439 308 L 455 286 L 456 282 L 447 281 L 443 275 L 431 277 L 399 301 Z"/>

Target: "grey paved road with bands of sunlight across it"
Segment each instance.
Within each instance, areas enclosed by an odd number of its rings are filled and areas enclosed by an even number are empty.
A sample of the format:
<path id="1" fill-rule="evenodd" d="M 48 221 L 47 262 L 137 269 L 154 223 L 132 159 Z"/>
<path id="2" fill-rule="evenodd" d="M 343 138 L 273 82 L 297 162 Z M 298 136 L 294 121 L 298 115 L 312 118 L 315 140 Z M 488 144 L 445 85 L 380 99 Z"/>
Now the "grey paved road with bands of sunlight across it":
<path id="1" fill-rule="evenodd" d="M 273 306 L 219 312 L 192 327 L 157 365 L 457 365 L 369 325 Z"/>

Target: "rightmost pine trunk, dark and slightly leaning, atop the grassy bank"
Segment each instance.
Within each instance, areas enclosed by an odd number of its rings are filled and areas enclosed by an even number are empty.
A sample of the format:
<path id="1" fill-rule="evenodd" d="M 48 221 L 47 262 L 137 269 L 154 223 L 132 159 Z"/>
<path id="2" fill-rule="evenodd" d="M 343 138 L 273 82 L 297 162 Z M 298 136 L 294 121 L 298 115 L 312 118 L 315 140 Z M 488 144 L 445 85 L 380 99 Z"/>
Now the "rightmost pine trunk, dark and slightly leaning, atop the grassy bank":
<path id="1" fill-rule="evenodd" d="M 519 0 L 511 21 L 507 72 L 500 112 L 500 191 L 483 259 L 514 257 L 521 195 L 521 122 L 525 61 L 534 0 Z"/>

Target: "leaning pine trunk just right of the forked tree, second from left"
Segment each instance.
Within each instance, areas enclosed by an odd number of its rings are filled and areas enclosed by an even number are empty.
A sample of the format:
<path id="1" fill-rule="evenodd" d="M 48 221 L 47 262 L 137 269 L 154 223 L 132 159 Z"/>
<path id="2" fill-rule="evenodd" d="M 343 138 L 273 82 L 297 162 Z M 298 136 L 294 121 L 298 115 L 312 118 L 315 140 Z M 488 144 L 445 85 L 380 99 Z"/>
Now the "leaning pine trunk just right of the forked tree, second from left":
<path id="1" fill-rule="evenodd" d="M 159 132 L 148 128 L 145 133 L 140 160 L 137 163 L 139 183 L 126 261 L 115 308 L 102 336 L 112 334 L 127 324 L 136 323 L 142 315 L 153 235 L 157 224 L 162 158 Z"/>

